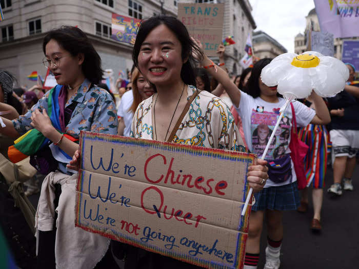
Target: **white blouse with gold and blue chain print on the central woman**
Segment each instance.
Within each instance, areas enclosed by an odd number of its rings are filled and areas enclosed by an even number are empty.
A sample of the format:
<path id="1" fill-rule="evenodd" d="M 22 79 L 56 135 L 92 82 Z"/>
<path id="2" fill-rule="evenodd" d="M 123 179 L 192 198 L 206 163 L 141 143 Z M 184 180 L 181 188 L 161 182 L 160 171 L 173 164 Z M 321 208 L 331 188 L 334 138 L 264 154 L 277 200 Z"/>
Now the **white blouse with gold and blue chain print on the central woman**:
<path id="1" fill-rule="evenodd" d="M 187 99 L 197 89 L 188 86 Z M 153 140 L 152 104 L 156 94 L 141 102 L 132 120 L 131 136 Z M 153 101 L 153 102 L 152 102 Z M 220 98 L 201 91 L 192 101 L 188 113 L 179 125 L 172 143 L 198 147 L 247 151 L 234 118 Z"/>

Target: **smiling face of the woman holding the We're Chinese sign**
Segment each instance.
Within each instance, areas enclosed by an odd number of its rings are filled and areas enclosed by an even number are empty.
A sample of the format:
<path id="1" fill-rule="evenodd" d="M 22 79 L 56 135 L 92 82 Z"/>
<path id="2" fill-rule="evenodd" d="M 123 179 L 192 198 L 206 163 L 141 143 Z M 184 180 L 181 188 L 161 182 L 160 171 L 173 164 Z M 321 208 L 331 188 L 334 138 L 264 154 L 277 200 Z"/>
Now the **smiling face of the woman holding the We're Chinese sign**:
<path id="1" fill-rule="evenodd" d="M 184 61 L 176 35 L 164 24 L 154 28 L 145 38 L 138 54 L 141 73 L 154 85 L 173 85 L 181 79 Z"/>

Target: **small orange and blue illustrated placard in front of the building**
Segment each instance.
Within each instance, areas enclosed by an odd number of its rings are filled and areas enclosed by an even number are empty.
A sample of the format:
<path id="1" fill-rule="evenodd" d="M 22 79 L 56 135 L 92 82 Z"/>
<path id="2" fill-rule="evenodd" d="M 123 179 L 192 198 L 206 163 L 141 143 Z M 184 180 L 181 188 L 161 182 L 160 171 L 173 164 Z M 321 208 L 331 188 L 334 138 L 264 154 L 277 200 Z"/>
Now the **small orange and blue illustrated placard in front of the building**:
<path id="1" fill-rule="evenodd" d="M 111 38 L 118 42 L 133 45 L 139 23 L 141 23 L 141 19 L 112 13 Z"/>

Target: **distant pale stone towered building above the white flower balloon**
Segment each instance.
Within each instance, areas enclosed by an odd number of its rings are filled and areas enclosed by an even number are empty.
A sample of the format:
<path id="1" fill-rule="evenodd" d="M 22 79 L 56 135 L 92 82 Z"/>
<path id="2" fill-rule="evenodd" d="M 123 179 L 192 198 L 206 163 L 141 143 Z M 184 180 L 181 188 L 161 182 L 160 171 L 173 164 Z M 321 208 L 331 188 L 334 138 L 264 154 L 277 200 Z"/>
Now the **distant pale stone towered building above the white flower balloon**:
<path id="1" fill-rule="evenodd" d="M 319 25 L 318 16 L 316 14 L 315 8 L 309 11 L 308 15 L 306 16 L 306 28 L 303 34 L 298 34 L 294 38 L 294 52 L 297 54 L 303 53 L 307 51 L 307 34 L 309 30 L 309 26 L 312 26 L 312 31 L 321 31 L 321 27 Z M 301 37 L 299 38 L 298 36 Z M 299 39 L 298 39 L 299 38 Z M 359 37 L 352 37 L 352 38 L 334 38 L 334 57 L 337 59 L 342 59 L 343 54 L 343 40 L 357 40 Z M 303 41 L 303 43 L 299 43 L 299 41 Z"/>

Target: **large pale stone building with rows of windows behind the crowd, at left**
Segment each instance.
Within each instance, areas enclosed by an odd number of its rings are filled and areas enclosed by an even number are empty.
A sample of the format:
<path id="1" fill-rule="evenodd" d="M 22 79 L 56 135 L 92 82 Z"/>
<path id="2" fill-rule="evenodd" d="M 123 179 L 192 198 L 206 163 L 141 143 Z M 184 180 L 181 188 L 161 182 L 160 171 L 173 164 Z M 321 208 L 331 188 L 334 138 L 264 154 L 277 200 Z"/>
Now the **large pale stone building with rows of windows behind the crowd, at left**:
<path id="1" fill-rule="evenodd" d="M 18 85 L 32 86 L 27 79 L 33 71 L 43 77 L 42 42 L 46 33 L 62 25 L 77 26 L 87 33 L 102 58 L 103 69 L 112 69 L 115 79 L 119 70 L 132 67 L 132 46 L 112 40 L 111 16 L 117 13 L 144 19 L 158 14 L 177 16 L 178 3 L 223 3 L 223 36 L 234 35 L 236 44 L 226 51 L 230 72 L 240 71 L 248 33 L 255 28 L 248 0 L 0 0 L 4 20 L 0 22 L 0 68 L 13 73 Z"/>

